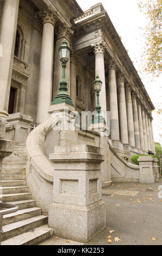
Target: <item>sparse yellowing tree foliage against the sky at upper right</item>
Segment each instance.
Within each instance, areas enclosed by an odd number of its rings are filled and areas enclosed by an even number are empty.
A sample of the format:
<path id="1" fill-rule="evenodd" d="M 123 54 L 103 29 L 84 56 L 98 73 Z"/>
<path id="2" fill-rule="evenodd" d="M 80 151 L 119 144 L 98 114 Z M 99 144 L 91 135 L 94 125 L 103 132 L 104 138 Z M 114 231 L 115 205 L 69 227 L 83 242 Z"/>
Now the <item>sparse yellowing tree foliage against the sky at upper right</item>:
<path id="1" fill-rule="evenodd" d="M 148 0 L 147 3 L 139 2 L 140 11 L 147 15 L 148 25 L 145 31 L 144 65 L 147 74 L 159 76 L 162 71 L 162 32 L 161 10 L 162 0 Z"/>

